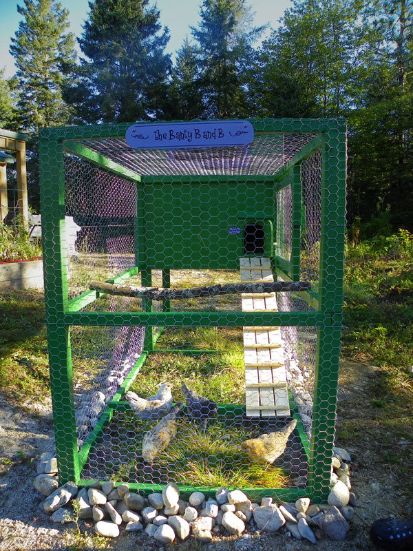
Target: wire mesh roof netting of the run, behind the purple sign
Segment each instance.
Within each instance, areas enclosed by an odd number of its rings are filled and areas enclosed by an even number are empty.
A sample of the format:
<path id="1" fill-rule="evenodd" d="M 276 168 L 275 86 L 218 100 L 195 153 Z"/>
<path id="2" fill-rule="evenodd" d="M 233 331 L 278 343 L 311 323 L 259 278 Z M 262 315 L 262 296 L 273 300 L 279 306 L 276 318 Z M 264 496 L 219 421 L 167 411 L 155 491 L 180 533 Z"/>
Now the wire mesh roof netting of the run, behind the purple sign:
<path id="1" fill-rule="evenodd" d="M 142 176 L 277 174 L 315 134 L 255 134 L 246 146 L 133 149 L 125 138 L 80 143 Z"/>

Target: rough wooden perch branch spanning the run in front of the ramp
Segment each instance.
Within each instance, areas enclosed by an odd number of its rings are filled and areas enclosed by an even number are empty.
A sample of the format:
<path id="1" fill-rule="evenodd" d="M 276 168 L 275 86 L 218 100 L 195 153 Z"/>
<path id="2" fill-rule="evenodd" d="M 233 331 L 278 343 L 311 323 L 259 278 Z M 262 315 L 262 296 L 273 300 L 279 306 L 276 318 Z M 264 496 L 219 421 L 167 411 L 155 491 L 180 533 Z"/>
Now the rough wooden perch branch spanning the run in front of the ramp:
<path id="1" fill-rule="evenodd" d="M 182 298 L 210 297 L 214 295 L 233 295 L 235 293 L 281 293 L 293 291 L 308 291 L 311 289 L 309 281 L 277 281 L 258 283 L 227 283 L 216 284 L 210 287 L 189 287 L 189 289 L 165 289 L 164 287 L 127 287 L 118 284 L 92 281 L 89 289 L 121 295 L 125 297 L 147 298 L 149 300 L 176 300 Z"/>

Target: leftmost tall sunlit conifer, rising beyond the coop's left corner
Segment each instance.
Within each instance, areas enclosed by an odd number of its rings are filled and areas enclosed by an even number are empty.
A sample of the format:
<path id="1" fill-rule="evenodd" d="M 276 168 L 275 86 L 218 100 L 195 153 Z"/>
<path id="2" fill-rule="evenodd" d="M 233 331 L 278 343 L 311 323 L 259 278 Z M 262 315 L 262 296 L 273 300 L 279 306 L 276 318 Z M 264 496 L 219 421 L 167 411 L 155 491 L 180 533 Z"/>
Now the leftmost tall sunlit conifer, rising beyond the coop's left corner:
<path id="1" fill-rule="evenodd" d="M 29 132 L 70 122 L 62 88 L 74 68 L 74 35 L 66 33 L 68 12 L 53 0 L 23 0 L 23 16 L 10 54 L 17 65 L 21 127 Z"/>

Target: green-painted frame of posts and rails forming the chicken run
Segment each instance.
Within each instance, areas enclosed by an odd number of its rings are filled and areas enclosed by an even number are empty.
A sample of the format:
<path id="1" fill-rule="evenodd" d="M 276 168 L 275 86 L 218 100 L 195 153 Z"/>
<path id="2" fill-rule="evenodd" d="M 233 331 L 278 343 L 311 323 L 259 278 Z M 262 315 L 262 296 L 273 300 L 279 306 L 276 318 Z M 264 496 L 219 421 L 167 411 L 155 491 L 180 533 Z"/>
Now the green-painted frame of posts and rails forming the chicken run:
<path id="1" fill-rule="evenodd" d="M 281 189 L 292 182 L 293 190 L 293 253 L 290 260 L 275 256 L 273 266 L 283 278 L 297 280 L 299 275 L 299 239 L 303 216 L 301 186 L 299 180 L 300 163 L 317 151 L 322 152 L 321 189 L 321 241 L 320 241 L 320 280 L 318 293 L 306 291 L 301 297 L 313 306 L 308 312 L 170 312 L 169 304 L 163 311 L 155 312 L 150 301 L 145 303 L 142 312 L 81 312 L 84 306 L 96 300 L 99 293 L 86 291 L 80 296 L 68 299 L 65 250 L 62 247 L 65 237 L 65 192 L 63 176 L 63 152 L 72 152 L 96 165 L 113 171 L 136 182 L 138 186 L 138 216 L 136 228 L 142 223 L 143 182 L 151 180 L 113 163 L 113 161 L 92 152 L 78 141 L 83 139 L 119 138 L 125 136 L 128 124 L 92 125 L 87 127 L 67 127 L 40 129 L 41 163 L 41 202 L 43 225 L 43 265 L 45 278 L 45 306 L 50 358 L 50 382 L 54 410 L 54 430 L 56 452 L 61 484 L 75 481 L 87 484 L 81 478 L 81 469 L 87 460 L 87 453 L 96 437 L 105 428 L 115 408 L 120 407 L 120 399 L 136 377 L 148 353 L 154 349 L 158 334 L 153 327 L 165 326 L 315 326 L 317 327 L 317 366 L 313 410 L 313 432 L 309 442 L 304 428 L 299 427 L 304 449 L 308 453 L 309 478 L 307 488 L 258 489 L 246 488 L 251 495 L 272 493 L 281 499 L 291 500 L 303 495 L 313 501 L 325 501 L 330 486 L 330 464 L 335 432 L 335 403 L 339 368 L 339 348 L 341 331 L 341 304 L 343 281 L 343 249 L 345 229 L 345 189 L 346 189 L 346 123 L 340 120 L 274 119 L 255 120 L 251 123 L 255 133 L 265 134 L 315 134 L 306 147 L 275 176 L 254 176 L 255 181 L 271 181 L 275 189 Z M 202 180 L 193 176 L 193 180 Z M 153 178 L 155 181 L 156 178 Z M 191 177 L 171 176 L 172 180 L 191 181 Z M 210 178 L 209 178 L 210 179 Z M 221 178 L 228 182 L 229 177 Z M 237 181 L 248 177 L 237 176 Z M 219 180 L 219 177 L 218 177 Z M 262 210 L 262 205 L 258 205 Z M 247 214 L 247 211 L 246 213 Z M 264 213 L 262 213 L 264 214 Z M 263 217 L 265 218 L 265 217 Z M 136 260 L 142 264 L 120 273 L 113 282 L 129 279 L 136 273 L 142 274 L 142 283 L 150 284 L 151 270 L 145 264 L 145 236 L 136 232 Z M 169 285 L 169 272 L 165 269 L 163 282 Z M 70 351 L 71 325 L 135 325 L 145 326 L 145 351 L 136 362 L 129 377 L 109 403 L 94 431 L 78 451 L 74 411 L 72 364 Z M 195 351 L 193 351 L 195 353 Z M 198 351 L 196 351 L 198 353 Z M 295 412 L 295 417 L 298 416 Z M 131 485 L 142 492 L 160 490 L 153 485 Z M 192 486 L 182 488 L 191 492 Z M 205 490 L 205 488 L 202 488 Z"/>

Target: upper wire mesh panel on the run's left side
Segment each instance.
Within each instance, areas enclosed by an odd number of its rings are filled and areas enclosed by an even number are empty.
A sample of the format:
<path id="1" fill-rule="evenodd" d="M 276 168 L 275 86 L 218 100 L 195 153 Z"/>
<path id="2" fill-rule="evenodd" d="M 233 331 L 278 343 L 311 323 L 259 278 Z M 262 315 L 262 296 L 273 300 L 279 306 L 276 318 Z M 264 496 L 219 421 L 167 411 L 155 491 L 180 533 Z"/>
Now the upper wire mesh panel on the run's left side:
<path id="1" fill-rule="evenodd" d="M 107 280 L 135 265 L 136 185 L 73 156 L 65 157 L 69 298 L 92 279 Z"/>

